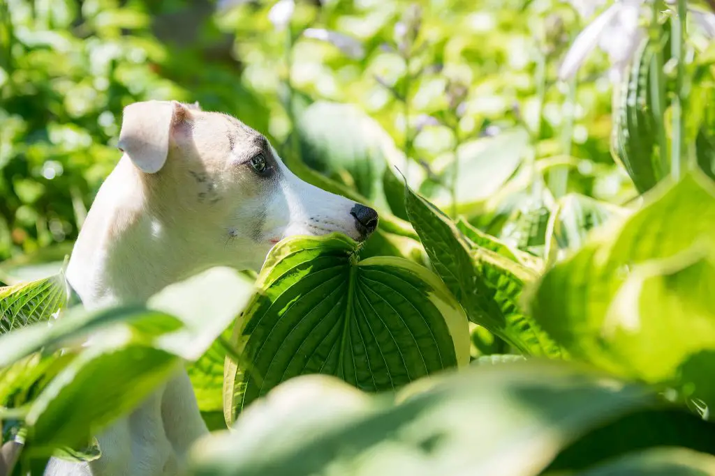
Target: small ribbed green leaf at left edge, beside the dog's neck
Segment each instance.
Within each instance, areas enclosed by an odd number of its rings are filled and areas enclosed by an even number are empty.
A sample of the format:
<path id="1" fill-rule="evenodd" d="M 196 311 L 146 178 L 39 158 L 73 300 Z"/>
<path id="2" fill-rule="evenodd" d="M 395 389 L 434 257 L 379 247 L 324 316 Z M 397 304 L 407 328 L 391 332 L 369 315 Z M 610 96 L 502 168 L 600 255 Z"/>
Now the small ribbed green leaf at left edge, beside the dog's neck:
<path id="1" fill-rule="evenodd" d="M 56 316 L 68 299 L 64 275 L 0 288 L 0 334 Z"/>

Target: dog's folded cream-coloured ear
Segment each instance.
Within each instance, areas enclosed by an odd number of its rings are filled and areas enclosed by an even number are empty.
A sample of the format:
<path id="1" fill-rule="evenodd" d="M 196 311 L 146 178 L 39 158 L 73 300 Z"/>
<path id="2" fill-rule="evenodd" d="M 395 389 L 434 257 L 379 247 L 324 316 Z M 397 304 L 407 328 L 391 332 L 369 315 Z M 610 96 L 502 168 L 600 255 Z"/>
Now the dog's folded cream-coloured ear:
<path id="1" fill-rule="evenodd" d="M 156 173 L 169 155 L 172 128 L 190 115 L 177 101 L 144 101 L 124 108 L 119 150 L 144 173 Z"/>

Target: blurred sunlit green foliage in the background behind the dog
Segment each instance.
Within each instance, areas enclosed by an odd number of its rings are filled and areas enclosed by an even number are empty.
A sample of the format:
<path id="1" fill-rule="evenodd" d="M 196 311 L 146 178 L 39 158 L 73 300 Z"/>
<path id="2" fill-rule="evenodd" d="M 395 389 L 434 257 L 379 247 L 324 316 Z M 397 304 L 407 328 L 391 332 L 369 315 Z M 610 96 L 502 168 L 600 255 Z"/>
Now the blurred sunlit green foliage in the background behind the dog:
<path id="1" fill-rule="evenodd" d="M 122 108 L 149 98 L 199 101 L 204 110 L 231 113 L 266 133 L 286 157 L 297 150 L 290 141 L 294 123 L 313 137 L 337 137 L 327 152 L 337 153 L 338 162 L 350 160 L 349 150 L 361 143 L 368 153 L 378 147 L 377 160 L 398 166 L 420 193 L 445 210 L 456 197 L 455 211 L 494 234 L 499 217 L 528 207 L 530 197 L 538 200 L 534 181 L 513 181 L 525 169 L 532 178 L 548 176 L 566 163 L 580 172 L 571 174 L 568 191 L 617 203 L 633 195 L 609 153 L 605 58 L 594 55 L 588 64 L 576 103 L 556 81 L 570 32 L 581 27 L 568 4 L 298 1 L 283 29 L 270 20 L 273 5 L 4 1 L 0 260 L 71 243 L 119 159 Z M 316 100 L 348 103 L 370 116 L 384 128 L 380 144 L 366 146 L 377 142 L 365 129 L 341 143 L 334 119 L 321 123 L 321 111 L 305 111 Z M 331 168 L 310 147 L 302 152 L 310 166 L 371 201 L 400 203 L 382 197 L 383 180 L 386 188 L 394 183 L 383 178 L 384 165 L 346 176 L 345 163 Z M 462 173 L 453 197 L 455 156 Z M 534 168 L 534 161 L 543 166 Z M 380 181 L 378 192 L 365 180 Z M 405 218 L 404 211 L 393 213 Z"/>

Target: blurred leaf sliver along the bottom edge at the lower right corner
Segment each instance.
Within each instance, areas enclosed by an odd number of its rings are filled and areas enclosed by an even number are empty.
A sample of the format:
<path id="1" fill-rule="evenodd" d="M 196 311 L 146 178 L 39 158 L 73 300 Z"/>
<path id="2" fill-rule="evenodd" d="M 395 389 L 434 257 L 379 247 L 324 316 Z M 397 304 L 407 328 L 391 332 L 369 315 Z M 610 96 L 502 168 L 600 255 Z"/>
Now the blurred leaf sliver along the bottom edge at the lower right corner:
<path id="1" fill-rule="evenodd" d="M 619 457 L 579 476 L 706 476 L 715 475 L 715 456 L 685 448 L 654 448 Z"/>

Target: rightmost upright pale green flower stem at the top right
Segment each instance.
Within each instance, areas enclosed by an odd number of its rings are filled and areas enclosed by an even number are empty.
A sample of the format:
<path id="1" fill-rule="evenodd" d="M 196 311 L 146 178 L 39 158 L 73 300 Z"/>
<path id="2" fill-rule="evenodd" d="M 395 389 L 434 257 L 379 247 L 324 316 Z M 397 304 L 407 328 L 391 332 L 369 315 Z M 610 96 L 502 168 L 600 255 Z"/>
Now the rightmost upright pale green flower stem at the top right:
<path id="1" fill-rule="evenodd" d="M 671 176 L 678 180 L 684 169 L 686 154 L 684 148 L 684 118 L 683 103 L 684 80 L 685 80 L 685 20 L 687 14 L 686 0 L 678 0 L 678 14 L 671 19 L 671 58 L 676 61 L 676 93 L 673 96 L 672 105 L 672 129 L 671 138 Z"/>

